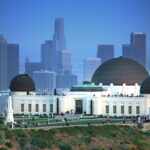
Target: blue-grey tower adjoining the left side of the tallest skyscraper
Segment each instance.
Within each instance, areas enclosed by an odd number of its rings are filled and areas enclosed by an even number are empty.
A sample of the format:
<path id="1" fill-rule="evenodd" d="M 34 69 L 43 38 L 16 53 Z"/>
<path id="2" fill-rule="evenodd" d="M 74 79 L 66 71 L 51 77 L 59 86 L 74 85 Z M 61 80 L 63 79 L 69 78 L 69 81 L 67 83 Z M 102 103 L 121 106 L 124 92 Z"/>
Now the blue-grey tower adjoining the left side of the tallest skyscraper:
<path id="1" fill-rule="evenodd" d="M 41 61 L 45 70 L 57 71 L 57 53 L 54 41 L 47 40 L 42 44 Z"/>

